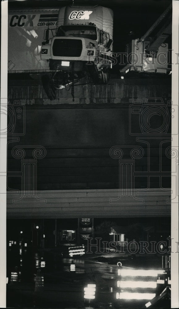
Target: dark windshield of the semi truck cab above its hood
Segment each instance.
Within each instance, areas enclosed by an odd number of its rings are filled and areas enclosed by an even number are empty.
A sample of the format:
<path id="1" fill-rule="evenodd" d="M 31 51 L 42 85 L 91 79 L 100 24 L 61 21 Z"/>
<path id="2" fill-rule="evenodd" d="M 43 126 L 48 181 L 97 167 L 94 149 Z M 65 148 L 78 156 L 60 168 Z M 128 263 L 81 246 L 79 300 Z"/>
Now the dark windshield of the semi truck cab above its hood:
<path id="1" fill-rule="evenodd" d="M 94 26 L 61 26 L 58 28 L 57 36 L 75 36 L 97 40 L 97 31 Z"/>

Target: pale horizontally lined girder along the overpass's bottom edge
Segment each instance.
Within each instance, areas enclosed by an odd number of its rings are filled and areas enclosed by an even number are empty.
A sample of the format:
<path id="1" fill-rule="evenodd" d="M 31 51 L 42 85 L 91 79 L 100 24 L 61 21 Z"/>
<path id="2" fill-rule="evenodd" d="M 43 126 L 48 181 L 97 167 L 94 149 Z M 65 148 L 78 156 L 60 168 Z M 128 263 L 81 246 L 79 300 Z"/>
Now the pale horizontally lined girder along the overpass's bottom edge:
<path id="1" fill-rule="evenodd" d="M 119 195 L 125 195 L 120 197 Z M 133 197 L 119 190 L 38 191 L 37 198 L 7 193 L 7 218 L 114 218 L 165 217 L 171 213 L 171 190 L 134 190 Z M 43 201 L 44 199 L 44 201 Z M 117 199 L 117 200 L 116 200 Z"/>

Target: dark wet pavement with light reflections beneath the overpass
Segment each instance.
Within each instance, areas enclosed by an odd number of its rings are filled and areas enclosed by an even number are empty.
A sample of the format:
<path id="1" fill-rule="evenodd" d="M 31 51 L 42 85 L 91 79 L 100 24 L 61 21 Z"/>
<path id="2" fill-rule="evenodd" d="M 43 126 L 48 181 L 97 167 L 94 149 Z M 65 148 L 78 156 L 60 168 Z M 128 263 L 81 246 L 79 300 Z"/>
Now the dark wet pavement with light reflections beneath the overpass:
<path id="1" fill-rule="evenodd" d="M 42 263 L 43 262 L 43 263 Z M 44 264 L 45 262 L 45 264 Z M 70 265 L 75 264 L 75 272 Z M 45 267 L 41 267 L 45 265 Z M 11 282 L 15 267 L 18 281 Z M 32 247 L 11 247 L 7 252 L 7 307 L 26 308 L 142 308 L 144 301 L 116 299 L 117 265 L 62 257 L 58 252 L 37 251 Z M 44 278 L 44 287 L 35 291 L 36 274 Z M 84 287 L 96 284 L 95 302 L 84 303 Z M 91 306 L 91 307 L 90 307 Z"/>

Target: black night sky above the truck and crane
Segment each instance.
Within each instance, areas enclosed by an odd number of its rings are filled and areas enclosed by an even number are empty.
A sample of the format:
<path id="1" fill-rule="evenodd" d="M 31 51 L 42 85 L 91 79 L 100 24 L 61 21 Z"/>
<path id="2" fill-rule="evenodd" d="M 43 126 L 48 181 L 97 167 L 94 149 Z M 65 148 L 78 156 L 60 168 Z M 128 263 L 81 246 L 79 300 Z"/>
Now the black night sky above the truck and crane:
<path id="1" fill-rule="evenodd" d="M 27 9 L 29 7 L 60 7 L 71 5 L 72 0 L 66 1 L 9 1 L 9 9 Z M 169 6 L 171 0 L 74 0 L 78 5 L 101 5 L 110 7 L 114 12 L 114 38 L 115 43 L 123 45 L 129 31 L 134 31 L 137 37 L 141 37 L 155 20 Z"/>

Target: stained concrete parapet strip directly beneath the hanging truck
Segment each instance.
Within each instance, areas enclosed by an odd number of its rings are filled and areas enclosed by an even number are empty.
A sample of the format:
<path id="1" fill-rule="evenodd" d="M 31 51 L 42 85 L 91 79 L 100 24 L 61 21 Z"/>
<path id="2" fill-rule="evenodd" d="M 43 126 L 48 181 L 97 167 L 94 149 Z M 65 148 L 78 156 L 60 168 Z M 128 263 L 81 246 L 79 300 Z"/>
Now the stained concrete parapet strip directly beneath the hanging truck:
<path id="1" fill-rule="evenodd" d="M 79 82 L 84 84 L 85 81 Z M 57 91 L 57 99 L 50 101 L 40 80 L 10 81 L 8 83 L 9 100 L 19 99 L 21 104 L 118 104 L 133 103 L 133 100 L 145 101 L 147 97 L 162 97 L 171 100 L 171 79 L 113 79 L 108 85 L 75 85 L 75 102 L 72 101 L 69 87 Z M 22 87 L 23 86 L 23 87 Z M 68 91 L 69 90 L 69 91 Z"/>

